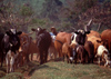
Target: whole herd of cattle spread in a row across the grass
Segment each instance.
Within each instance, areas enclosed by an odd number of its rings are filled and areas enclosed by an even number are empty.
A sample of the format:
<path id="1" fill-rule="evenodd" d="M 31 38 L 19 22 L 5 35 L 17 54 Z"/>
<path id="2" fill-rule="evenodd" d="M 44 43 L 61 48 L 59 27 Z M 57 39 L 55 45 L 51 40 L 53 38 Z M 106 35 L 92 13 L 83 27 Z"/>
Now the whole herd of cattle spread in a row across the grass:
<path id="1" fill-rule="evenodd" d="M 93 30 L 74 30 L 71 33 L 57 33 L 56 28 L 51 28 L 52 32 L 40 27 L 31 30 L 36 32 L 36 40 L 31 33 L 16 29 L 0 33 L 0 61 L 1 67 L 6 62 L 8 73 L 32 60 L 33 53 L 37 53 L 40 65 L 47 62 L 48 57 L 58 57 L 63 61 L 67 58 L 68 63 L 98 61 L 99 65 L 111 66 L 111 29 L 101 34 Z"/>

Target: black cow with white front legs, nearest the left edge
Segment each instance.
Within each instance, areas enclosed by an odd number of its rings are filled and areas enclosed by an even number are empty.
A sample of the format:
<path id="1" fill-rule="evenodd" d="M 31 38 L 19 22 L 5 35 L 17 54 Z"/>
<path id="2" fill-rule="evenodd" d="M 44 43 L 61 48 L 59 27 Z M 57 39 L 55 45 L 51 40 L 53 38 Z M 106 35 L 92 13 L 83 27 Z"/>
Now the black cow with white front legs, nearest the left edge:
<path id="1" fill-rule="evenodd" d="M 6 62 L 7 62 L 7 72 L 9 72 L 9 70 L 10 72 L 14 71 L 13 63 L 18 55 L 17 51 L 19 50 L 20 47 L 19 34 L 21 33 L 22 33 L 21 31 L 17 32 L 16 29 L 10 29 L 4 33 L 4 37 L 1 41 L 2 55 L 4 55 L 3 57 L 6 57 Z M 3 60 L 1 62 L 3 62 Z"/>

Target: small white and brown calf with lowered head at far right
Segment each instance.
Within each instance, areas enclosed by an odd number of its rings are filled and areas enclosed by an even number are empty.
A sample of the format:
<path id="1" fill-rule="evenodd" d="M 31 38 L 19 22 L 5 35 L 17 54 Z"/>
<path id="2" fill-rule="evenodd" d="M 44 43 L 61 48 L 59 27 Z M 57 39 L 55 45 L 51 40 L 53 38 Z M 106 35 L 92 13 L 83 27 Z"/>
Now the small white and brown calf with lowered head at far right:
<path id="1" fill-rule="evenodd" d="M 99 59 L 98 61 L 99 65 L 100 65 L 100 58 L 105 61 L 104 67 L 107 67 L 108 65 L 111 65 L 111 61 L 109 60 L 110 59 L 109 51 L 104 46 L 99 46 L 97 51 L 98 53 L 95 55 L 95 57 L 98 57 Z"/>

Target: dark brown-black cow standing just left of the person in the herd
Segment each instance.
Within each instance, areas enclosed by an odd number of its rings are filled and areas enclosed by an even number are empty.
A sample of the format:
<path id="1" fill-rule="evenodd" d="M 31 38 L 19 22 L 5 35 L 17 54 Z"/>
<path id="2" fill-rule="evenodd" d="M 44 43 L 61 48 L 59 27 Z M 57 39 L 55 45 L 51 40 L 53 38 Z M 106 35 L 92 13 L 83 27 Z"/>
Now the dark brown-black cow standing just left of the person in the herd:
<path id="1" fill-rule="evenodd" d="M 39 48 L 40 52 L 40 65 L 42 65 L 47 62 L 48 49 L 51 45 L 51 36 L 46 29 L 40 27 L 32 29 L 32 31 L 36 31 L 37 47 Z"/>

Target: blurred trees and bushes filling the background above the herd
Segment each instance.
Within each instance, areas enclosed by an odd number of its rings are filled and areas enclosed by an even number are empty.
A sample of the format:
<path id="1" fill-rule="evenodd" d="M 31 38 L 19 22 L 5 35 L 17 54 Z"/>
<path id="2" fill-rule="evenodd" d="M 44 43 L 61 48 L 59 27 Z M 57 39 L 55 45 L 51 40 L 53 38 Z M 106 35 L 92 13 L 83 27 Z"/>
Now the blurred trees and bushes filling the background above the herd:
<path id="1" fill-rule="evenodd" d="M 58 31 L 83 29 L 93 19 L 91 29 L 111 29 L 111 0 L 0 0 L 0 32 L 17 28 L 29 32 L 42 27 Z"/>

